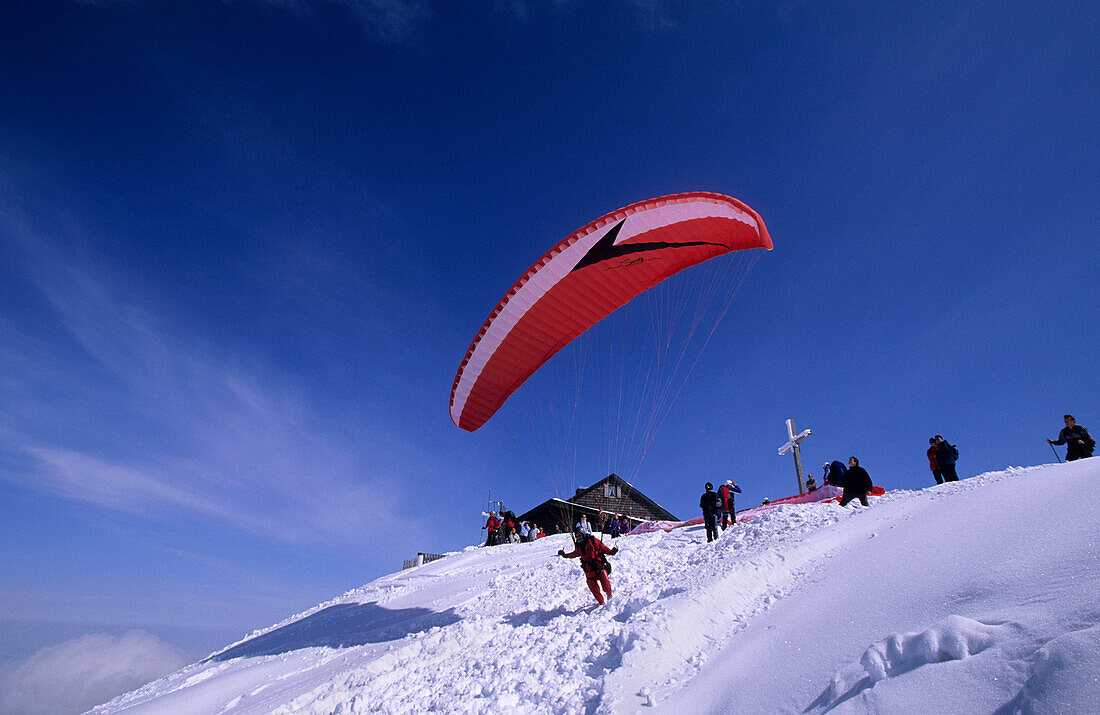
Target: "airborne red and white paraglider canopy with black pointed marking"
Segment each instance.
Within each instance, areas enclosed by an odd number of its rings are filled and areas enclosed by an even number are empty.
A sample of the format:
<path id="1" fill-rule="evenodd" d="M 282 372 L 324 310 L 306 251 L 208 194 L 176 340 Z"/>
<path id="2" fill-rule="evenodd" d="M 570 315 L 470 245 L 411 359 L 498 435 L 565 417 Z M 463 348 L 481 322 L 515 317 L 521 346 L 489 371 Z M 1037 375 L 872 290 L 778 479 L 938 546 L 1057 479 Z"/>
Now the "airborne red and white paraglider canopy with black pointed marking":
<path id="1" fill-rule="evenodd" d="M 553 246 L 501 298 L 451 387 L 451 419 L 473 431 L 547 360 L 635 296 L 745 249 L 771 250 L 760 216 L 693 191 L 631 204 Z"/>

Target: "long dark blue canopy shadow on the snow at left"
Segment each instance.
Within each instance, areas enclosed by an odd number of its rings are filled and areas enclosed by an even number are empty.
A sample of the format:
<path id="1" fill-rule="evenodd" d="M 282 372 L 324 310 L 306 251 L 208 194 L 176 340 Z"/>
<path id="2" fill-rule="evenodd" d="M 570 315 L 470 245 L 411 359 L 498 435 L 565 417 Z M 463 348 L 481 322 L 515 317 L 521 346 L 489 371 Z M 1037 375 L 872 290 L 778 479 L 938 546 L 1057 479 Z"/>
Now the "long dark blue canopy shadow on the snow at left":
<path id="1" fill-rule="evenodd" d="M 250 638 L 207 660 L 279 656 L 300 648 L 351 648 L 381 644 L 459 620 L 461 618 L 453 608 L 438 613 L 428 608 L 389 609 L 376 603 L 342 603 Z"/>

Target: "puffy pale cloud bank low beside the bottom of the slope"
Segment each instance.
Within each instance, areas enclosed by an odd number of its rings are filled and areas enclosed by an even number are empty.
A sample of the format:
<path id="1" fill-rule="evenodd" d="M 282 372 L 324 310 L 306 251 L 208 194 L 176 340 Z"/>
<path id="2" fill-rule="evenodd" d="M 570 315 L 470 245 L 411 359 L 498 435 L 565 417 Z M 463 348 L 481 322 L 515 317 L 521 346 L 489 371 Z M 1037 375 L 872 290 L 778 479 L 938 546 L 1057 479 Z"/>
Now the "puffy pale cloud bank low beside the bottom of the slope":
<path id="1" fill-rule="evenodd" d="M 43 648 L 0 679 L 6 713 L 81 713 L 183 668 L 183 651 L 141 630 Z"/>

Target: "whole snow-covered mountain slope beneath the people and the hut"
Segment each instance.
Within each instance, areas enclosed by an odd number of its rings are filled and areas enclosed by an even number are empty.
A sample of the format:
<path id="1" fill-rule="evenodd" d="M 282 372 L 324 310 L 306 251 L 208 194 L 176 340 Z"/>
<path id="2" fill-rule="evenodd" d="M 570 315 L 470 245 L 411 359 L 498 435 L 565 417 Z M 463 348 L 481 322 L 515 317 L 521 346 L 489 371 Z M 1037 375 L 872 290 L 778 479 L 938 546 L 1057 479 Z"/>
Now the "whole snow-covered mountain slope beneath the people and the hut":
<path id="1" fill-rule="evenodd" d="M 1100 459 L 870 508 L 617 541 L 592 605 L 568 536 L 470 548 L 96 712 L 1097 712 Z"/>

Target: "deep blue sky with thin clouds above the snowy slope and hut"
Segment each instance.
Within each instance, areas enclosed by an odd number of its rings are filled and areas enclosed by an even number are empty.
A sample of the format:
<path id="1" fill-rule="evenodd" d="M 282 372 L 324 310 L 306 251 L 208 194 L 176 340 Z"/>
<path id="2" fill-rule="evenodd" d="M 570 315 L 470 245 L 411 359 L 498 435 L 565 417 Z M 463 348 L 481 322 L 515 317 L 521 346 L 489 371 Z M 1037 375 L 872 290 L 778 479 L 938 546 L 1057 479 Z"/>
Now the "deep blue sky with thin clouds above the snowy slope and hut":
<path id="1" fill-rule="evenodd" d="M 965 476 L 1100 424 L 1094 6 L 685 4 L 4 3 L 3 652 L 213 649 L 473 542 L 490 490 L 780 496 L 788 417 L 888 488 L 932 482 L 933 433 Z M 776 250 L 644 462 L 547 469 L 560 365 L 451 424 L 532 261 L 700 189 Z"/>

